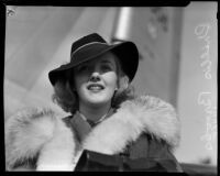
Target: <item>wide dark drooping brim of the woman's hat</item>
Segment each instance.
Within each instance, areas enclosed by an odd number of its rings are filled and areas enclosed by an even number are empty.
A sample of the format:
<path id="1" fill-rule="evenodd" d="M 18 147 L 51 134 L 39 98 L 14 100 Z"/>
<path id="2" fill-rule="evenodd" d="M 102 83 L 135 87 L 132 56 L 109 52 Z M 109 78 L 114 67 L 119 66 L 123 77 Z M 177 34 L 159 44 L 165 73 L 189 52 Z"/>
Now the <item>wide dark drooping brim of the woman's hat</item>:
<path id="1" fill-rule="evenodd" d="M 89 56 L 81 57 L 80 59 L 75 59 L 75 62 L 70 62 L 68 64 L 62 65 L 56 69 L 53 69 L 48 73 L 48 78 L 51 84 L 54 86 L 57 79 L 64 79 L 65 73 L 69 69 L 73 69 L 74 67 L 78 66 L 79 64 L 82 64 L 85 62 L 91 61 L 107 52 L 112 52 L 116 54 L 121 63 L 123 72 L 129 76 L 130 81 L 135 76 L 138 66 L 139 66 L 139 52 L 134 43 L 132 42 L 123 42 L 119 44 L 113 45 L 100 45 L 91 46 L 90 50 L 95 50 L 96 52 Z M 80 54 L 80 53 L 79 53 Z"/>

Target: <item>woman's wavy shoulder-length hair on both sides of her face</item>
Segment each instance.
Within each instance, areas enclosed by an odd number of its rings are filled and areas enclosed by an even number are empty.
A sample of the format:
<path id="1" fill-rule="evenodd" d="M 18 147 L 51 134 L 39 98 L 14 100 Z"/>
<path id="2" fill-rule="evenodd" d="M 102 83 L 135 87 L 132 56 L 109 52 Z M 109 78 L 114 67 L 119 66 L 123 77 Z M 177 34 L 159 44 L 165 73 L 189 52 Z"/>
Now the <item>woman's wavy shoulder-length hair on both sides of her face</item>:
<path id="1" fill-rule="evenodd" d="M 116 56 L 116 55 L 114 55 Z M 117 57 L 117 56 L 116 56 Z M 111 107 L 119 108 L 121 102 L 134 98 L 134 87 L 130 85 L 129 77 L 122 70 L 119 59 L 114 59 L 117 63 L 117 75 L 119 89 L 116 90 Z M 54 85 L 54 94 L 52 95 L 53 102 L 57 103 L 64 111 L 74 114 L 79 108 L 78 95 L 73 91 L 73 70 L 65 73 Z"/>

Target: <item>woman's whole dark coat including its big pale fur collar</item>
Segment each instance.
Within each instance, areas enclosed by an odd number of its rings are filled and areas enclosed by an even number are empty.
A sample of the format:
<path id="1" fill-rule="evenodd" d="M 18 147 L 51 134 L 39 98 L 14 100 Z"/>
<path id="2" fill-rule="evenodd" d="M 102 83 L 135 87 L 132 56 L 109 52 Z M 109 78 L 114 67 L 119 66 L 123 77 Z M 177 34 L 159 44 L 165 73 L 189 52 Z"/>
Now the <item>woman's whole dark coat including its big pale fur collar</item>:
<path id="1" fill-rule="evenodd" d="M 24 112 L 8 121 L 9 169 L 34 158 L 32 166 L 37 170 L 75 170 L 86 150 L 90 160 L 80 167 L 82 170 L 111 167 L 111 170 L 182 172 L 173 155 L 179 143 L 179 120 L 174 108 L 158 98 L 127 100 L 94 128 L 77 113 L 61 120 L 52 111 L 38 111 L 38 116 Z M 18 151 L 20 155 L 15 155 Z"/>

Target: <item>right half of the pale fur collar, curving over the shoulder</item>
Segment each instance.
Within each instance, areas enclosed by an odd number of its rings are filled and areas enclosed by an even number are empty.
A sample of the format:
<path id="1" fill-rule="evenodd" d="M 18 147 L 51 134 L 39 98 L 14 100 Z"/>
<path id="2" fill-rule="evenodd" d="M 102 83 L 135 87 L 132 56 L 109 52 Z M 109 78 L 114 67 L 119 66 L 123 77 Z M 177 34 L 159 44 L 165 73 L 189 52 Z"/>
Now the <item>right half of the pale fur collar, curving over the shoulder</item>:
<path id="1" fill-rule="evenodd" d="M 175 147 L 179 143 L 179 120 L 169 103 L 155 97 L 142 96 L 124 101 L 117 113 L 94 129 L 85 140 L 84 147 L 116 154 L 123 151 L 129 142 L 135 141 L 142 132 Z"/>

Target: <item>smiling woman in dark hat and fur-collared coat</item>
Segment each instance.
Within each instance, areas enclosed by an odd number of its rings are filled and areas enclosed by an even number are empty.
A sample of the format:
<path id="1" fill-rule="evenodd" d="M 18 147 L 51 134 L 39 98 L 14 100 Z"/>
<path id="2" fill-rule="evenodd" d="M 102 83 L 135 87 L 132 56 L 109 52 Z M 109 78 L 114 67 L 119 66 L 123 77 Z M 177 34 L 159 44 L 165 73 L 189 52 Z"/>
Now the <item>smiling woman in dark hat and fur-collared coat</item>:
<path id="1" fill-rule="evenodd" d="M 78 170 L 88 151 L 96 164 L 81 170 L 182 172 L 172 154 L 179 120 L 169 103 L 134 96 L 130 82 L 138 65 L 132 42 L 111 45 L 94 33 L 73 43 L 70 62 L 48 74 L 53 100 L 72 116 L 29 109 L 10 118 L 7 168 Z"/>

